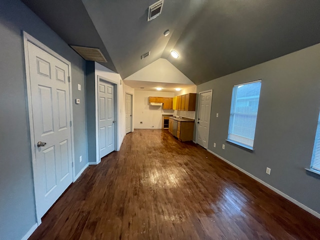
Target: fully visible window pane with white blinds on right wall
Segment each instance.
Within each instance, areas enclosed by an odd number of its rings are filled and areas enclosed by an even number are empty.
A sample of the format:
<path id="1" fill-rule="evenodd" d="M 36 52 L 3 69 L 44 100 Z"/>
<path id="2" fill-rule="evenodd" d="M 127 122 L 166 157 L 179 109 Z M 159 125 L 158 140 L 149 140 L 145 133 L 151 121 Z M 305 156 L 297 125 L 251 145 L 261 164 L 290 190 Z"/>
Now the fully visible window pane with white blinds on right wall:
<path id="1" fill-rule="evenodd" d="M 228 141 L 253 150 L 261 80 L 234 85 Z"/>

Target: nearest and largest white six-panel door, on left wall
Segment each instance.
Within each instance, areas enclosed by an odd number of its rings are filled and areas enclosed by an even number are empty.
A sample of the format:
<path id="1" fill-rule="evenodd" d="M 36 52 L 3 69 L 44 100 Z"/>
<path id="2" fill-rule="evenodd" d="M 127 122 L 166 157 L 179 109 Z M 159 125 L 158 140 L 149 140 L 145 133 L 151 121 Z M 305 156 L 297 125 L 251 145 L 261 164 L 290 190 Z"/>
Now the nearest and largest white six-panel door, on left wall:
<path id="1" fill-rule="evenodd" d="M 43 216 L 72 182 L 69 72 L 66 63 L 29 41 L 28 60 L 36 210 Z"/>

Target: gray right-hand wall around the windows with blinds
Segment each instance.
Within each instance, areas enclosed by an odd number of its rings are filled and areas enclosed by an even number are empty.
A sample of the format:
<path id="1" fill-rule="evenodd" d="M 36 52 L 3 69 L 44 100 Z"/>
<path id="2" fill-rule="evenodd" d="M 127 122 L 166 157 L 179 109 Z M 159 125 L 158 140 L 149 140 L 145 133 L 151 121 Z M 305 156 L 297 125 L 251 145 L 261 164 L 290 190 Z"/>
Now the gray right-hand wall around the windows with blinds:
<path id="1" fill-rule="evenodd" d="M 197 86 L 197 92 L 213 89 L 208 149 L 318 213 L 320 192 L 313 189 L 320 179 L 304 168 L 310 166 L 320 108 L 319 52 L 317 44 Z M 232 86 L 257 79 L 262 84 L 255 150 L 248 152 L 225 139 Z"/>

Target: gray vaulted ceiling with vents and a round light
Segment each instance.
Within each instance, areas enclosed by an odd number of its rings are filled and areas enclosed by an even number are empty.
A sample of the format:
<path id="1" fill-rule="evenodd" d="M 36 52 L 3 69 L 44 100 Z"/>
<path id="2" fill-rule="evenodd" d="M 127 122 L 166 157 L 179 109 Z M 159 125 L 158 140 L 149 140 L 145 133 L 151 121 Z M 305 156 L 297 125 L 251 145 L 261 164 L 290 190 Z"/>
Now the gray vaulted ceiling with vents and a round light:
<path id="1" fill-rule="evenodd" d="M 164 0 L 147 21 L 156 1 L 22 0 L 68 44 L 99 48 L 123 79 L 165 58 L 200 84 L 320 42 L 319 0 Z"/>

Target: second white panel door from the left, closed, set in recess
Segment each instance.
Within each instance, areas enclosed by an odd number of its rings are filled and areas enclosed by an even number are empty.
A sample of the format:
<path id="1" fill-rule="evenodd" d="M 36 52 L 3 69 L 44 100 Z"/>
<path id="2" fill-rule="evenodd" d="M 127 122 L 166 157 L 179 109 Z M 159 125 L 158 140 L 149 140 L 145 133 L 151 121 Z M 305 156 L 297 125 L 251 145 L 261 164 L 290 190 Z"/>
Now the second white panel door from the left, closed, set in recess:
<path id="1" fill-rule="evenodd" d="M 99 157 L 114 151 L 114 105 L 113 85 L 99 80 L 98 117 L 99 117 Z"/>

